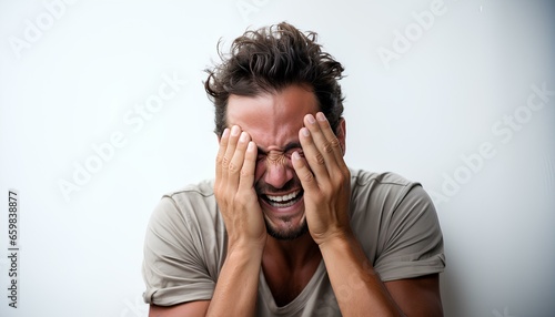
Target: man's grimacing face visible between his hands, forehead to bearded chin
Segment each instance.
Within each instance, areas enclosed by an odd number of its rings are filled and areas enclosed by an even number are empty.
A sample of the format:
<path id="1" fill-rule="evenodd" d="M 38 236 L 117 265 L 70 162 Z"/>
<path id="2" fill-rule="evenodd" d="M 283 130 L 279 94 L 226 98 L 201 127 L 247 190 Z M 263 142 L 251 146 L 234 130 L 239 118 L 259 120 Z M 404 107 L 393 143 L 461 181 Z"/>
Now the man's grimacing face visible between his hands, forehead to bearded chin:
<path id="1" fill-rule="evenodd" d="M 304 115 L 319 111 L 314 93 L 291 85 L 259 96 L 230 95 L 228 126 L 239 125 L 259 149 L 255 191 L 271 236 L 292 239 L 307 232 L 303 188 L 291 162 L 302 155 L 299 130 Z"/>

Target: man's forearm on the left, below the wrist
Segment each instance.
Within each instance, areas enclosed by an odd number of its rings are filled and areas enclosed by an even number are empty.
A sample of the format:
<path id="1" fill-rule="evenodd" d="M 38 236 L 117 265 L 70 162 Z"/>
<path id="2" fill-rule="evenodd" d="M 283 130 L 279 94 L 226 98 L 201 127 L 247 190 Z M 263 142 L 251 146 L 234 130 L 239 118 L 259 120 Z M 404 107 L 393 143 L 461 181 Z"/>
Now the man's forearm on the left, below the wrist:
<path id="1" fill-rule="evenodd" d="M 230 248 L 206 316 L 254 316 L 262 249 Z"/>

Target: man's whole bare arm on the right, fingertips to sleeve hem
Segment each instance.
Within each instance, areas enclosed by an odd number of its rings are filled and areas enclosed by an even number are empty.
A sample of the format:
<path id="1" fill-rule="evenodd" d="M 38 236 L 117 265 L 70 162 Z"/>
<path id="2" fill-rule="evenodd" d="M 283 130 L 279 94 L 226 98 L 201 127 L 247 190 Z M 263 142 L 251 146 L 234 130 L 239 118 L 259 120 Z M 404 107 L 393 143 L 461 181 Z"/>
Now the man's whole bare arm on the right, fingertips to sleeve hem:
<path id="1" fill-rule="evenodd" d="M 322 252 L 342 315 L 441 316 L 433 278 L 384 285 L 352 233 L 350 171 L 343 160 L 345 126 L 341 124 L 335 134 L 322 113 L 316 120 L 306 115 L 299 133 L 305 158 L 294 154 L 293 166 L 305 190 L 310 233 Z"/>

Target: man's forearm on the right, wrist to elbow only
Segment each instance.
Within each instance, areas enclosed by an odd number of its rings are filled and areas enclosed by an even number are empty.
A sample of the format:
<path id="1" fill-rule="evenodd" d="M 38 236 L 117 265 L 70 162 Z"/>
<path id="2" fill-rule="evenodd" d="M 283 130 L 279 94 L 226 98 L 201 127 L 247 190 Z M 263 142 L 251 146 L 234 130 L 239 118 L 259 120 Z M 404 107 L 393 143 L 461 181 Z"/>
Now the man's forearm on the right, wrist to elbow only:
<path id="1" fill-rule="evenodd" d="M 403 316 L 354 236 L 320 249 L 343 316 Z"/>

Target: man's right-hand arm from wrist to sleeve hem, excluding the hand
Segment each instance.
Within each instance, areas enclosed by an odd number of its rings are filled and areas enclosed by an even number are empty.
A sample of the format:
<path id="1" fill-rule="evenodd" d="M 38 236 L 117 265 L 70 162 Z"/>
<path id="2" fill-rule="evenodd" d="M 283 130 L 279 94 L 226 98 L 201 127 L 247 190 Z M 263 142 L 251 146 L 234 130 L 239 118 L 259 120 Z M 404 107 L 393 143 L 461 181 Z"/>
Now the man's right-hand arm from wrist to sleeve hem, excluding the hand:
<path id="1" fill-rule="evenodd" d="M 335 239 L 321 246 L 343 316 L 364 309 L 365 316 L 443 316 L 438 274 L 382 283 L 357 245 Z"/>

